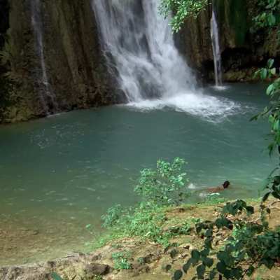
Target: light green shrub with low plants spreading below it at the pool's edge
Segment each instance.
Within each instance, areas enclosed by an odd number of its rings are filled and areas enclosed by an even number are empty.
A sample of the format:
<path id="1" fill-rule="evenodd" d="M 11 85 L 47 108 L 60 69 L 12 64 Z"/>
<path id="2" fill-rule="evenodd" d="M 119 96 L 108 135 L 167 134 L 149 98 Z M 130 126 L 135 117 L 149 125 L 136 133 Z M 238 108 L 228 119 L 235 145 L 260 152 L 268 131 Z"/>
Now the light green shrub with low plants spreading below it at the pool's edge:
<path id="1" fill-rule="evenodd" d="M 143 169 L 139 184 L 134 191 L 140 196 L 137 207 L 123 208 L 116 205 L 102 216 L 104 228 L 109 235 L 99 240 L 97 246 L 119 237 L 141 237 L 149 239 L 167 248 L 174 235 L 188 232 L 188 221 L 176 232 L 164 230 L 165 210 L 186 201 L 190 195 L 188 179 L 182 171 L 186 162 L 175 158 L 173 162 L 158 160 L 155 169 Z M 90 230 L 91 225 L 87 225 Z"/>

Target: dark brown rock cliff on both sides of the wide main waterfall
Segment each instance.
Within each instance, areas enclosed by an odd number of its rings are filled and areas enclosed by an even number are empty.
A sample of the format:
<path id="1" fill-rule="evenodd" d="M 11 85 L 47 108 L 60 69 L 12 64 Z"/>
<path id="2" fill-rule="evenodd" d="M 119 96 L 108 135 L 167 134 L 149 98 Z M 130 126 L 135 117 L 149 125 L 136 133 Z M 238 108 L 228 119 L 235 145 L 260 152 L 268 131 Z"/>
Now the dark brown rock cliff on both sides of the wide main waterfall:
<path id="1" fill-rule="evenodd" d="M 276 30 L 250 32 L 257 2 L 214 1 L 226 81 L 251 80 L 269 57 L 280 60 Z M 124 101 L 106 67 L 90 3 L 0 0 L 0 123 Z M 211 6 L 186 20 L 178 36 L 204 80 L 214 80 L 210 18 Z"/>

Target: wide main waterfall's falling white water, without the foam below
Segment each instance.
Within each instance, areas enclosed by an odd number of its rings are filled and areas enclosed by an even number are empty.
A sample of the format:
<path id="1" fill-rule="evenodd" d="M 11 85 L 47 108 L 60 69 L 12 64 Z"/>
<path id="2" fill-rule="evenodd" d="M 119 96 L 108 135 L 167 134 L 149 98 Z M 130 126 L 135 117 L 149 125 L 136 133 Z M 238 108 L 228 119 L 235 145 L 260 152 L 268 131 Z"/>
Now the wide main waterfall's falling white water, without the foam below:
<path id="1" fill-rule="evenodd" d="M 158 1 L 93 0 L 92 6 L 128 102 L 194 89 L 195 78 L 174 46 L 168 20 L 158 13 Z"/>

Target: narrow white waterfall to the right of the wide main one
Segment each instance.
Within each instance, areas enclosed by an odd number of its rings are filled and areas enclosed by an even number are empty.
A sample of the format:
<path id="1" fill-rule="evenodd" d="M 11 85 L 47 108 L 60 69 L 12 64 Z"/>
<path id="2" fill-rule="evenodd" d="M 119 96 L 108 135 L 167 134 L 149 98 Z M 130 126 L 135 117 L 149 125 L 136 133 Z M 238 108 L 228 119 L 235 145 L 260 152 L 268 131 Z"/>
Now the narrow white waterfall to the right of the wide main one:
<path id="1" fill-rule="evenodd" d="M 212 8 L 212 18 L 211 18 L 211 41 L 213 48 L 214 57 L 214 68 L 215 68 L 215 83 L 216 86 L 223 85 L 222 78 L 222 57 L 220 49 L 218 22 L 216 18 L 215 8 Z"/>

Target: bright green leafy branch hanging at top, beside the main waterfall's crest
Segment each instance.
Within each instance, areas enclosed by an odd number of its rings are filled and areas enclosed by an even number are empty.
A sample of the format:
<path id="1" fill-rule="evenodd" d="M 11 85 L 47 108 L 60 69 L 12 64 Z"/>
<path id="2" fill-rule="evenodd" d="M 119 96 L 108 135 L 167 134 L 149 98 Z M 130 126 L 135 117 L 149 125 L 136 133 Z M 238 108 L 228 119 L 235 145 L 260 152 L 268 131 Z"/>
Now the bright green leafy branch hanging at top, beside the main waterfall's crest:
<path id="1" fill-rule="evenodd" d="M 172 13 L 172 29 L 179 31 L 186 18 L 196 17 L 207 3 L 208 0 L 162 0 L 160 12 L 165 17 Z"/>

